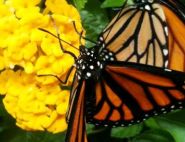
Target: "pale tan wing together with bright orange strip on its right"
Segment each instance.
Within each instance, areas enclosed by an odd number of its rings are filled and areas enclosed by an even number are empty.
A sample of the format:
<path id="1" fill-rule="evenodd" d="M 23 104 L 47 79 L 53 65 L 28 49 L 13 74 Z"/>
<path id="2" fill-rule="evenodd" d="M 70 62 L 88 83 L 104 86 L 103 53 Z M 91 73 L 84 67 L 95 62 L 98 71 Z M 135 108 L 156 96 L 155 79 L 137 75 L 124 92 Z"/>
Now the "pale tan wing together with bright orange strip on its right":
<path id="1" fill-rule="evenodd" d="M 137 2 L 120 10 L 100 35 L 100 43 L 119 61 L 184 71 L 184 13 L 178 0 Z"/>

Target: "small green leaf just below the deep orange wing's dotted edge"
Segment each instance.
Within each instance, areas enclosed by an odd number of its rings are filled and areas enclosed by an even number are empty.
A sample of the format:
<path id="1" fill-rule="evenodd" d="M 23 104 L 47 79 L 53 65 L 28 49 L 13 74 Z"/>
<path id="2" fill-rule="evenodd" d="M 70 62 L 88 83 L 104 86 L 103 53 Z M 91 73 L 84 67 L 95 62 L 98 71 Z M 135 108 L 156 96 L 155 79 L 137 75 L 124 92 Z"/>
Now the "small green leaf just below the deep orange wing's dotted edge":
<path id="1" fill-rule="evenodd" d="M 129 138 L 139 134 L 143 129 L 143 123 L 130 127 L 112 128 L 111 137 Z"/>

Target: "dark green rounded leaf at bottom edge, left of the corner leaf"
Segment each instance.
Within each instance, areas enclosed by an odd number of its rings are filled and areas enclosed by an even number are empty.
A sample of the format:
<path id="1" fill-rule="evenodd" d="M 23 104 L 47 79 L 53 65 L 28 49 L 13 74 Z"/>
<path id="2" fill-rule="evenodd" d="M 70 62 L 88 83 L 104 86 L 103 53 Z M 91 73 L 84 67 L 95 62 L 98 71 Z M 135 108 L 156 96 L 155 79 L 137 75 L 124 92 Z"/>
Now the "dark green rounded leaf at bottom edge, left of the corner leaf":
<path id="1" fill-rule="evenodd" d="M 131 142 L 175 142 L 173 137 L 160 129 L 148 130 L 135 137 Z"/>

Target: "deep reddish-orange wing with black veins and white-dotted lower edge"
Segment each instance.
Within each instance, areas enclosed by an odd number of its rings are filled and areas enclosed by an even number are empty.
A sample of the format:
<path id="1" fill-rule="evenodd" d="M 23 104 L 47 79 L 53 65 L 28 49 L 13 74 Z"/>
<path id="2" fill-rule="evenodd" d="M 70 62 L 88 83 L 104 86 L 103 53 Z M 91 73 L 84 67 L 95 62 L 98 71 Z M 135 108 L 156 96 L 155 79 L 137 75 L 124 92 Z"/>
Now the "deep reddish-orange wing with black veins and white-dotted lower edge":
<path id="1" fill-rule="evenodd" d="M 149 116 L 183 108 L 185 104 L 182 72 L 112 62 L 94 84 L 86 92 L 88 97 L 94 96 L 94 99 L 87 97 L 87 121 L 97 125 L 131 125 Z"/>

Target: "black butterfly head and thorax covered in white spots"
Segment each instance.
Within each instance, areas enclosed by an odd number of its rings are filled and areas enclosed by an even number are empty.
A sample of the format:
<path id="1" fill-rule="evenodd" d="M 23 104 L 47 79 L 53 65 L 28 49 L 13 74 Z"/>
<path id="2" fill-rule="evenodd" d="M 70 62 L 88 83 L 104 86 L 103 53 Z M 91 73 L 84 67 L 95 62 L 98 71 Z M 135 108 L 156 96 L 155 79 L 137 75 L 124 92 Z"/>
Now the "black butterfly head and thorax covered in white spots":
<path id="1" fill-rule="evenodd" d="M 101 75 L 101 70 L 104 68 L 105 61 L 114 61 L 114 54 L 104 49 L 100 54 L 97 48 L 81 48 L 80 56 L 76 65 L 76 76 L 78 80 L 82 78 L 87 80 L 93 78 L 98 81 Z"/>

